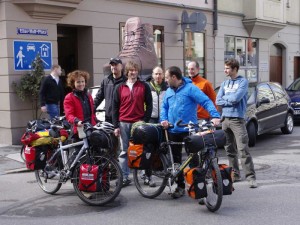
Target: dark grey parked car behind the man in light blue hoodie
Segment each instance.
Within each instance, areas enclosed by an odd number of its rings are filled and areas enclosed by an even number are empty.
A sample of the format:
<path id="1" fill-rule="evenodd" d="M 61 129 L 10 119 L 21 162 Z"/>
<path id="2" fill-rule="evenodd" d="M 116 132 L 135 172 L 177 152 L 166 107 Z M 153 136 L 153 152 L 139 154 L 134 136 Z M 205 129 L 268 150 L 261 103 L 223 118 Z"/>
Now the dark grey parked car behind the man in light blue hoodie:
<path id="1" fill-rule="evenodd" d="M 215 89 L 218 92 L 220 87 Z M 294 129 L 294 110 L 284 88 L 275 82 L 249 83 L 246 126 L 249 146 L 256 143 L 257 135 L 280 128 L 283 134 Z"/>

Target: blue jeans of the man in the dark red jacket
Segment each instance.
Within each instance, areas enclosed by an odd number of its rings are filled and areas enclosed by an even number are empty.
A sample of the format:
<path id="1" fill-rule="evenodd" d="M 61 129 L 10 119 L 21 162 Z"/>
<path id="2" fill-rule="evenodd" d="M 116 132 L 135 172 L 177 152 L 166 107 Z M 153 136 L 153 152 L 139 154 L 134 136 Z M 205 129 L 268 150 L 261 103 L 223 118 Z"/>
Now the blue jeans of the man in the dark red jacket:
<path id="1" fill-rule="evenodd" d="M 123 179 L 127 179 L 130 174 L 130 168 L 128 167 L 127 151 L 129 147 L 129 138 L 132 123 L 120 122 L 120 149 L 119 164 L 123 172 Z"/>

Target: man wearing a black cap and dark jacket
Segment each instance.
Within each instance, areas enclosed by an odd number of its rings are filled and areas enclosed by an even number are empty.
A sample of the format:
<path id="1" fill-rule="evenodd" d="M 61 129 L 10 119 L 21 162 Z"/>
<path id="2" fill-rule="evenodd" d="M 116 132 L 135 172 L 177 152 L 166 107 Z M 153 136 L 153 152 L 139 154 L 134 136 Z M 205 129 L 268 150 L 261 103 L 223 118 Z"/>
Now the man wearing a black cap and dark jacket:
<path id="1" fill-rule="evenodd" d="M 109 61 L 111 74 L 102 80 L 101 86 L 94 99 L 95 110 L 105 99 L 105 121 L 112 123 L 112 99 L 115 86 L 126 80 L 122 74 L 122 61 L 111 58 Z"/>

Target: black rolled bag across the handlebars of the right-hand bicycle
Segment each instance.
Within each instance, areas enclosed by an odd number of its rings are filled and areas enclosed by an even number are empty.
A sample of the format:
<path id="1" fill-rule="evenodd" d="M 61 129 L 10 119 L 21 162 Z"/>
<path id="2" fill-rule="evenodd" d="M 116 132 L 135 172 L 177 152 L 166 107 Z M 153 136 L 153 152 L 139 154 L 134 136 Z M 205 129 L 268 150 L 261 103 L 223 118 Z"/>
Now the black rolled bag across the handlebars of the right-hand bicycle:
<path id="1" fill-rule="evenodd" d="M 204 147 L 216 146 L 224 147 L 226 143 L 225 133 L 223 130 L 215 130 L 213 133 L 205 135 L 191 135 L 184 138 L 185 146 L 188 153 L 197 153 Z"/>

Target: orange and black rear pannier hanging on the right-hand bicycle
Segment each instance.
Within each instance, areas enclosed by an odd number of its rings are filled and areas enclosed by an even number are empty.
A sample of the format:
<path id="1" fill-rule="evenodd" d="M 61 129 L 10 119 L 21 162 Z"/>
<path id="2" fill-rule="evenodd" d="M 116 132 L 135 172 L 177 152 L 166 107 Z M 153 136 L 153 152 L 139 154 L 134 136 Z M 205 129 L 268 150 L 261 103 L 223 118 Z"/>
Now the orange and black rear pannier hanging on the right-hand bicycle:
<path id="1" fill-rule="evenodd" d="M 152 163 L 153 145 L 133 144 L 129 142 L 128 147 L 128 167 L 131 169 L 149 169 Z"/>

